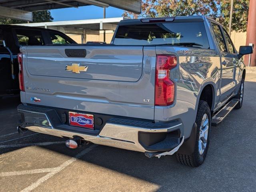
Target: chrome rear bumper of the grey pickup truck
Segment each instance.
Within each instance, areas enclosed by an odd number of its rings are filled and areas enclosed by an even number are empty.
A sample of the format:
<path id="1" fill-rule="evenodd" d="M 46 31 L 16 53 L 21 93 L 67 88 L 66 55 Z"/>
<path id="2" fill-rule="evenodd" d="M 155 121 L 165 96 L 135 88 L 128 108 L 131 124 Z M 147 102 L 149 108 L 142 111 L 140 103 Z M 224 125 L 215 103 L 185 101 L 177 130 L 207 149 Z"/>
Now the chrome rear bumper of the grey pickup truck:
<path id="1" fill-rule="evenodd" d="M 54 114 L 52 111 L 54 110 L 19 105 L 18 112 L 22 114 L 22 121 L 19 126 L 38 133 L 54 135 L 57 137 L 80 137 L 81 139 L 95 144 L 113 146 L 139 152 L 152 152 L 152 150 L 148 150 L 147 147 L 141 141 L 139 141 L 140 133 L 168 134 L 172 131 L 179 130 L 178 133 L 180 135 L 176 138 L 176 140 L 172 140 L 172 146 L 170 145 L 170 149 L 177 148 L 177 146 L 179 148 L 181 141 L 184 141 L 183 125 L 179 121 L 174 121 L 171 123 L 170 127 L 158 129 L 134 127 L 132 125 L 120 125 L 107 122 L 97 135 L 90 135 L 80 131 L 63 129 L 63 126 L 59 125 L 60 119 L 56 117 L 56 114 Z M 56 123 L 56 121 L 58 123 Z M 175 141 L 177 142 L 175 143 Z M 178 148 L 176 150 L 178 150 Z M 156 150 L 153 150 L 153 152 L 156 152 Z"/>

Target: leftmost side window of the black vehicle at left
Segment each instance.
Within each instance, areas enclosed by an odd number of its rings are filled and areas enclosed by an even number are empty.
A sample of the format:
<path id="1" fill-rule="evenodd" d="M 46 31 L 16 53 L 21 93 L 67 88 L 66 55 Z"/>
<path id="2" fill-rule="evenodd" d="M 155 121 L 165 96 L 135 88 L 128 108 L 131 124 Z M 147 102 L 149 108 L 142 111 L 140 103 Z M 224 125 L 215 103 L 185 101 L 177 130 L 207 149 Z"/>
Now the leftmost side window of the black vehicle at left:
<path id="1" fill-rule="evenodd" d="M 38 30 L 16 29 L 18 43 L 26 46 L 44 45 L 42 32 Z"/>

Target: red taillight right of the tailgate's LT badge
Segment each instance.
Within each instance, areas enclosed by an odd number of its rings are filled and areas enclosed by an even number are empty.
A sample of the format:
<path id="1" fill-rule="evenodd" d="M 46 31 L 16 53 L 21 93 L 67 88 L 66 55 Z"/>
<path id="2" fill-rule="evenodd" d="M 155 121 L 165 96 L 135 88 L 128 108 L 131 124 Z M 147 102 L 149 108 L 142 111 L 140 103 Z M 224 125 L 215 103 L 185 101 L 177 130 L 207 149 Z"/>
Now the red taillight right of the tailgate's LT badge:
<path id="1" fill-rule="evenodd" d="M 175 97 L 175 84 L 170 79 L 170 70 L 177 66 L 175 55 L 156 56 L 155 105 L 172 105 Z"/>

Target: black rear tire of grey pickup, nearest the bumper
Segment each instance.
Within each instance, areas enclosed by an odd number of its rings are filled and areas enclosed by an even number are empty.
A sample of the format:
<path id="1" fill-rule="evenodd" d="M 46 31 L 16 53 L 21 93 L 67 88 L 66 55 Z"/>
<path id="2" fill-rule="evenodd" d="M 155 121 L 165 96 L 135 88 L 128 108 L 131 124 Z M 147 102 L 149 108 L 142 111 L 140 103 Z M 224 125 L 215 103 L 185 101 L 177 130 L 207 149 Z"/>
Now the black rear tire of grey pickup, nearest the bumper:
<path id="1" fill-rule="evenodd" d="M 202 123 L 202 119 L 204 117 L 204 114 L 208 117 L 208 137 L 206 141 L 206 147 L 204 148 L 204 152 L 200 154 L 199 152 L 199 135 L 200 135 L 200 125 Z M 212 123 L 212 116 L 211 111 L 208 103 L 206 101 L 199 101 L 198 104 L 198 110 L 196 115 L 196 142 L 194 146 L 194 152 L 192 154 L 181 154 L 176 152 L 175 156 L 178 162 L 180 162 L 183 165 L 191 166 L 191 167 L 198 167 L 201 164 L 203 164 L 206 154 L 208 151 L 209 143 L 210 143 L 210 132 L 211 132 L 211 123 Z"/>

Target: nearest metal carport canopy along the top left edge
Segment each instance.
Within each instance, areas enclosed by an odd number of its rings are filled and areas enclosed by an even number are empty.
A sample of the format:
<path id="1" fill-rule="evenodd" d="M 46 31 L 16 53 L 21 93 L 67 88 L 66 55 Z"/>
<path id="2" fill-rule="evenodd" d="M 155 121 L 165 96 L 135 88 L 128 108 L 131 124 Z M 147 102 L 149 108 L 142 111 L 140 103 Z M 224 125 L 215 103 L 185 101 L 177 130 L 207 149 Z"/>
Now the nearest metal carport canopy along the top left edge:
<path id="1" fill-rule="evenodd" d="M 88 5 L 141 12 L 141 0 L 0 0 L 0 17 L 32 21 L 32 11 Z"/>

